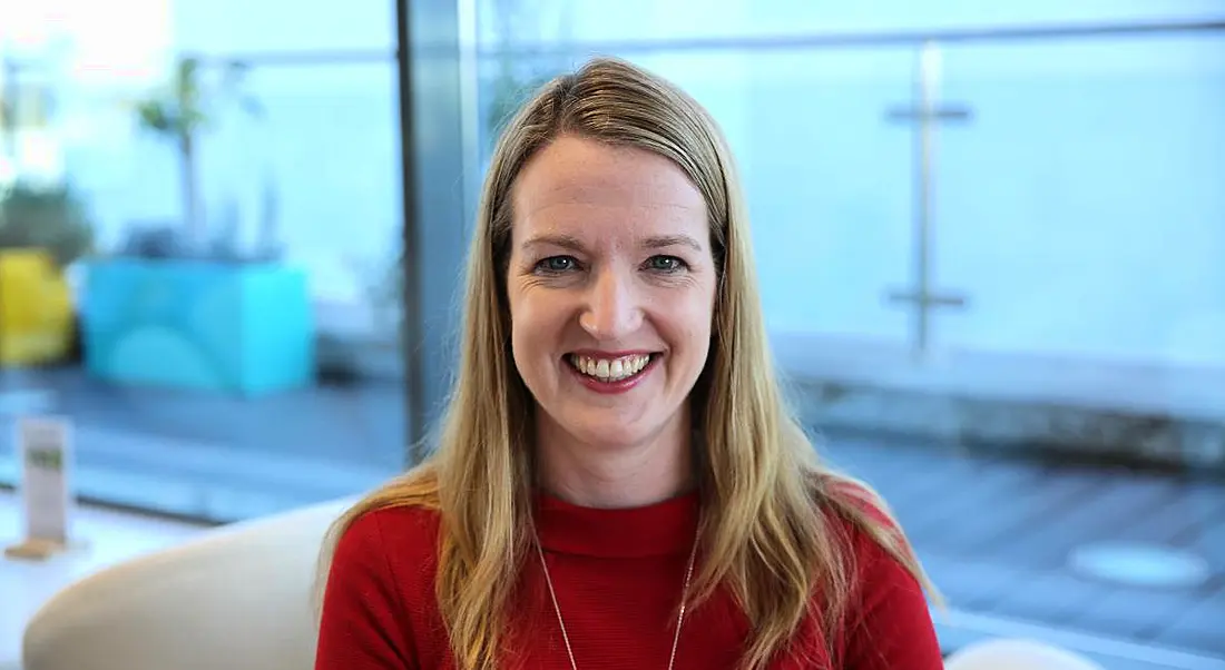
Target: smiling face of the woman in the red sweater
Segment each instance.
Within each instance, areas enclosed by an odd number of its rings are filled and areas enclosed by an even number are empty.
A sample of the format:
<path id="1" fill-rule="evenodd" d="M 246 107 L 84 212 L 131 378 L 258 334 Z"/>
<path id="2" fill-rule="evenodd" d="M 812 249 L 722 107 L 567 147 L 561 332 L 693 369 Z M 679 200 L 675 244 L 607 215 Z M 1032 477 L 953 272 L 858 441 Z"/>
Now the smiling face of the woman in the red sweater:
<path id="1" fill-rule="evenodd" d="M 564 136 L 512 198 L 511 339 L 541 432 L 603 448 L 687 432 L 717 284 L 702 194 L 666 158 Z"/>

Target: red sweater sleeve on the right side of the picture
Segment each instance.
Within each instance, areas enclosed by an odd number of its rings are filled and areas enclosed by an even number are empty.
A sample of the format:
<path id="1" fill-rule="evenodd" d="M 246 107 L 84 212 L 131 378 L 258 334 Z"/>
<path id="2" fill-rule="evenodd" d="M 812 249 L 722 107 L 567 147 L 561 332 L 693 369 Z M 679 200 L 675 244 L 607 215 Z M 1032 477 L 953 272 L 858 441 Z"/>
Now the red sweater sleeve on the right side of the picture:
<path id="1" fill-rule="evenodd" d="M 943 657 L 922 587 L 876 541 L 860 535 L 859 589 L 844 646 L 844 670 L 942 670 Z"/>

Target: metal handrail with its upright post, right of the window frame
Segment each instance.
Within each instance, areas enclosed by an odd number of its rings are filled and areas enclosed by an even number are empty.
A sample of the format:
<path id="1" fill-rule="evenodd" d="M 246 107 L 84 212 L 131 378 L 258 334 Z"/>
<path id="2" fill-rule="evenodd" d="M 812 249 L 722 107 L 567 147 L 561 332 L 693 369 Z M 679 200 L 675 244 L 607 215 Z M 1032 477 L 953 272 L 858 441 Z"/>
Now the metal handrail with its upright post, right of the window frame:
<path id="1" fill-rule="evenodd" d="M 941 171 L 937 167 L 941 158 L 937 138 L 941 135 L 941 130 L 947 126 L 954 124 L 965 125 L 975 121 L 975 109 L 971 104 L 948 103 L 941 99 L 941 78 L 947 73 L 947 69 L 941 62 L 942 56 L 949 49 L 964 49 L 969 47 L 1019 48 L 1020 45 L 1027 45 L 1035 50 L 1041 50 L 1044 45 L 1050 48 L 1118 39 L 1139 42 L 1143 39 L 1156 40 L 1192 36 L 1225 36 L 1225 17 L 1194 22 L 1129 24 L 1034 24 L 1005 28 L 899 31 L 861 34 L 690 38 L 654 42 L 611 40 L 573 44 L 508 44 L 497 49 L 478 49 L 477 55 L 483 60 L 491 61 L 500 59 L 532 59 L 543 62 L 556 62 L 572 61 L 577 56 L 593 53 L 616 54 L 632 59 L 649 60 L 664 55 L 719 58 L 735 53 L 744 54 L 747 59 L 764 58 L 768 54 L 795 55 L 806 53 L 811 54 L 812 58 L 818 58 L 822 54 L 831 53 L 878 53 L 886 49 L 897 53 L 898 49 L 909 50 L 914 62 L 910 77 L 910 100 L 900 105 L 891 105 L 888 109 L 882 110 L 882 115 L 891 124 L 905 125 L 911 129 L 910 160 L 913 168 L 910 170 L 910 189 L 913 191 L 913 203 L 910 206 L 910 280 L 904 287 L 883 288 L 881 290 L 884 294 L 886 304 L 908 310 L 910 322 L 907 337 L 908 347 L 915 358 L 922 360 L 933 349 L 935 314 L 938 310 L 959 310 L 967 307 L 971 293 L 969 287 L 956 290 L 937 289 L 935 257 L 943 241 L 938 234 L 941 217 L 937 211 L 937 201 L 942 191 L 942 183 L 940 179 Z M 793 64 L 795 60 L 793 60 Z M 669 71 L 664 69 L 664 73 L 666 75 Z M 729 75 L 729 77 L 734 76 Z M 797 86 L 802 87 L 811 83 L 805 82 Z M 1225 87 L 1225 83 L 1223 83 L 1223 87 Z M 1033 100 L 1027 102 L 1033 103 Z M 786 114 L 804 114 L 805 111 L 801 104 L 793 104 Z M 1225 107 L 1220 111 L 1225 114 Z M 1057 110 L 1050 111 L 1052 119 L 1057 118 Z M 1014 130 L 1024 132 L 1027 129 L 1018 127 Z M 751 143 L 748 148 L 752 149 Z M 964 181 L 958 185 L 967 189 L 973 187 L 973 185 Z M 797 184 L 791 183 L 789 186 L 797 186 Z M 750 192 L 750 200 L 752 201 L 755 197 L 761 200 L 763 198 L 763 194 Z M 758 220 L 758 224 L 762 223 L 768 222 Z M 981 224 L 987 225 L 989 222 L 981 222 Z M 1220 222 L 1220 224 L 1225 225 L 1225 220 Z M 1057 241 L 1052 241 L 1052 244 L 1057 244 Z M 1205 285 L 1204 289 L 1213 290 L 1210 285 Z M 1221 298 L 1225 300 L 1225 295 Z M 1225 337 L 1225 327 L 1221 328 L 1221 336 Z M 1089 355 L 1098 354 L 1098 352 L 1082 353 L 1088 353 Z M 1109 353 L 1106 358 L 1110 358 Z M 1225 364 L 1225 359 L 1216 363 Z"/>

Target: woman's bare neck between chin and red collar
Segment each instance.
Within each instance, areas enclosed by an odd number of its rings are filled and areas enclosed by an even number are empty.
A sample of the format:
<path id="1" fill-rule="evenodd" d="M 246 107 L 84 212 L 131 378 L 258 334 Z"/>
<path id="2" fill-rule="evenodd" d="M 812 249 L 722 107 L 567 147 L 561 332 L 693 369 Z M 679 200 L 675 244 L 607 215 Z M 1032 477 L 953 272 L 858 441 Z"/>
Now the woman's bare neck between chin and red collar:
<path id="1" fill-rule="evenodd" d="M 538 424 L 540 425 L 540 424 Z M 556 424 L 537 431 L 537 476 L 551 495 L 583 507 L 644 507 L 693 485 L 692 440 L 677 421 L 641 445 L 590 445 Z"/>

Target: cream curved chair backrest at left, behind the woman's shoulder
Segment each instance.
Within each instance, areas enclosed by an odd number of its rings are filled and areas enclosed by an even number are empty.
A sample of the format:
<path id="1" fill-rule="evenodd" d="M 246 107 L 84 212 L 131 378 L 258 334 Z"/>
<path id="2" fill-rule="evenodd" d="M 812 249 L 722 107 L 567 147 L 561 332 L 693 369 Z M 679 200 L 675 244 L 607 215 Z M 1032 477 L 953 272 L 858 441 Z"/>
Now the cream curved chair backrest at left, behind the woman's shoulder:
<path id="1" fill-rule="evenodd" d="M 219 528 L 65 588 L 27 626 L 23 670 L 310 670 L 318 550 L 352 502 Z"/>

